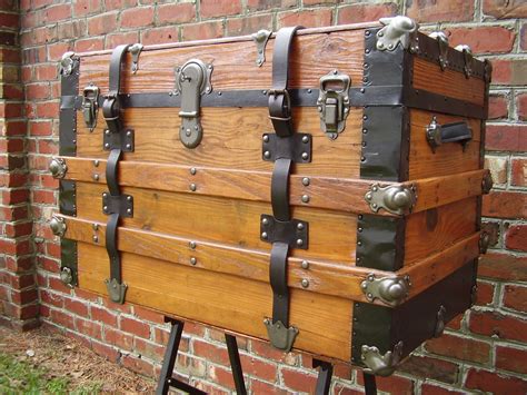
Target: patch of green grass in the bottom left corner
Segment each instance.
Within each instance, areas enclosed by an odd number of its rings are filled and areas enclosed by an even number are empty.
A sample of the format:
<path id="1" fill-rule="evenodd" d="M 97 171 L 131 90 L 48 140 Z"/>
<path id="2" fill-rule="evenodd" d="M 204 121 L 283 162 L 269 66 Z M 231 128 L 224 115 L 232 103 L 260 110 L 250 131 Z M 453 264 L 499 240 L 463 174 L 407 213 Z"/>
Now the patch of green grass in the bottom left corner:
<path id="1" fill-rule="evenodd" d="M 53 377 L 50 372 L 0 352 L 1 394 L 98 394 L 101 383 L 70 388 L 68 377 Z"/>

